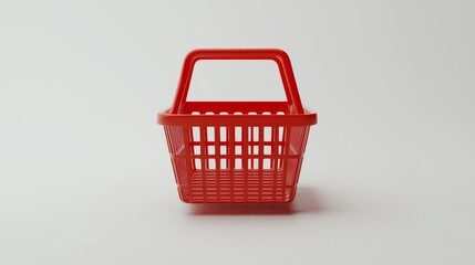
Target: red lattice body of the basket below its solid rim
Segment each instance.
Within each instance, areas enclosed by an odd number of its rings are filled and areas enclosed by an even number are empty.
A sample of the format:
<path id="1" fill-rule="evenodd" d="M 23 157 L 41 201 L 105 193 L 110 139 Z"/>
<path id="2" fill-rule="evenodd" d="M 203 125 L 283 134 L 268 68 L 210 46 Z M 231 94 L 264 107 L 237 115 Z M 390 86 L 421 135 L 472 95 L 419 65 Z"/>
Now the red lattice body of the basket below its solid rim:
<path id="1" fill-rule="evenodd" d="M 286 202 L 293 199 L 308 126 L 166 126 L 165 131 L 183 200 Z"/>

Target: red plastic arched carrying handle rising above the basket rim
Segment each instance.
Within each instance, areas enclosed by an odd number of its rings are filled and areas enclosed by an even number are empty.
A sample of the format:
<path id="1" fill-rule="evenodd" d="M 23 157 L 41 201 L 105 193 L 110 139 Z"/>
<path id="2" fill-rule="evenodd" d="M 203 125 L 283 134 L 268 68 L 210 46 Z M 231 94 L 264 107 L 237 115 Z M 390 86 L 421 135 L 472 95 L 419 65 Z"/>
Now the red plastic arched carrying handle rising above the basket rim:
<path id="1" fill-rule="evenodd" d="M 289 55 L 278 49 L 224 49 L 224 50 L 194 50 L 186 55 L 183 64 L 182 76 L 171 109 L 172 114 L 182 113 L 184 103 L 188 95 L 189 83 L 193 68 L 199 60 L 272 60 L 279 66 L 287 100 L 291 113 L 303 114 L 302 103 L 300 102 L 297 89 L 296 77 L 293 76 L 292 65 Z"/>

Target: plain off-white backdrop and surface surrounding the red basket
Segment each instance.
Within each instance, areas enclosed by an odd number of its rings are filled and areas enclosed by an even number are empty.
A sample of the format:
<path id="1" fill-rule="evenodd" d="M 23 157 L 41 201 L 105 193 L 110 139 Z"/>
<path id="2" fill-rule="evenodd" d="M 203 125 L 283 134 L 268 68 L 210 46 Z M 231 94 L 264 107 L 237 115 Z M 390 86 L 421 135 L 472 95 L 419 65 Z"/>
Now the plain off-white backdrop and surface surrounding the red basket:
<path id="1" fill-rule="evenodd" d="M 474 264 L 474 10 L 0 1 L 0 264 Z M 319 114 L 292 205 L 178 200 L 156 114 L 195 47 L 289 53 Z M 282 95 L 249 63 L 194 96 Z"/>

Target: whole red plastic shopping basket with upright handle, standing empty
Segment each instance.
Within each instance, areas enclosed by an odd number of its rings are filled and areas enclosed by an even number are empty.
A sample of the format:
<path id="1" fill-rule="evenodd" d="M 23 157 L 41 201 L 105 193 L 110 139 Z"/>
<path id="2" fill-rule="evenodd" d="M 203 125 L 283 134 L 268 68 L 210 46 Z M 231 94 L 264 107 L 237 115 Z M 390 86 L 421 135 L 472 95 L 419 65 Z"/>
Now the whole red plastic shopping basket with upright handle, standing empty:
<path id="1" fill-rule="evenodd" d="M 272 60 L 287 102 L 187 102 L 198 60 Z M 281 50 L 195 50 L 184 62 L 164 125 L 179 198 L 190 203 L 283 203 L 296 195 L 310 126 Z"/>

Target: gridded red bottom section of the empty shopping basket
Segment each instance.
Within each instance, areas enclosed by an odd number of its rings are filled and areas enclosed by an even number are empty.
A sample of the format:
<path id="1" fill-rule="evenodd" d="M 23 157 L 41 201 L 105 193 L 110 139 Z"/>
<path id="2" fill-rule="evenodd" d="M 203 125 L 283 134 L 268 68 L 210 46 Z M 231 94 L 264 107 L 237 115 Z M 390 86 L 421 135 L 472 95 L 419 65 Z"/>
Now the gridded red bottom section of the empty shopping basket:
<path id="1" fill-rule="evenodd" d="M 288 203 L 297 188 L 286 184 L 283 172 L 273 170 L 220 170 L 219 174 L 196 170 L 187 183 L 178 186 L 178 192 L 188 203 Z"/>

